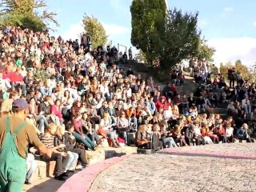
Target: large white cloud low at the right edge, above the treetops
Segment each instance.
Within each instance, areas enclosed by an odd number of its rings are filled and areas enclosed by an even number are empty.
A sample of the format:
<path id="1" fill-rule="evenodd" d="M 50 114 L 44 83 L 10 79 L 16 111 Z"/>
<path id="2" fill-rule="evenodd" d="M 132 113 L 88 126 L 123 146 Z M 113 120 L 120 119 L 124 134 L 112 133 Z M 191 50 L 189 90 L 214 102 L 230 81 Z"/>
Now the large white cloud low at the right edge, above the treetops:
<path id="1" fill-rule="evenodd" d="M 214 62 L 218 66 L 220 62 L 235 62 L 241 59 L 246 66 L 256 62 L 256 38 L 218 38 L 207 42 L 216 49 Z"/>

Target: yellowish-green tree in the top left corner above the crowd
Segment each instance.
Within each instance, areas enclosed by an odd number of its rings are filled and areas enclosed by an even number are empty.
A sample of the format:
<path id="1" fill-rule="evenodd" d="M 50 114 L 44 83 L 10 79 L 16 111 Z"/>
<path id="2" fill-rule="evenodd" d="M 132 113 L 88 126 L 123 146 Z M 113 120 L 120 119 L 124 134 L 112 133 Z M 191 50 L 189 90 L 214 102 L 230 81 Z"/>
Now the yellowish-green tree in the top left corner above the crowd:
<path id="1" fill-rule="evenodd" d="M 50 22 L 56 26 L 56 14 L 46 10 L 44 0 L 2 0 L 0 3 L 0 23 L 2 26 L 21 26 L 31 30 L 44 30 Z M 38 14 L 38 9 L 42 14 Z"/>

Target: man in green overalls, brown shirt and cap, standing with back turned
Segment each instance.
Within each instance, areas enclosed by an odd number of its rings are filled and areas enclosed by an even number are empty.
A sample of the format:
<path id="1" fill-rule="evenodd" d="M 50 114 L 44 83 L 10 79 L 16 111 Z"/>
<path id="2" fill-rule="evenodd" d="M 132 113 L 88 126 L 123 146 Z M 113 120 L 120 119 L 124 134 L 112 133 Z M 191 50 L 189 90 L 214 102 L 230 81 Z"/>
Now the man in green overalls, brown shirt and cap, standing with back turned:
<path id="1" fill-rule="evenodd" d="M 34 127 L 25 122 L 28 103 L 22 98 L 14 100 L 14 115 L 0 118 L 0 191 L 21 192 L 26 178 L 26 149 L 33 144 L 43 154 L 52 151 L 39 141 Z"/>

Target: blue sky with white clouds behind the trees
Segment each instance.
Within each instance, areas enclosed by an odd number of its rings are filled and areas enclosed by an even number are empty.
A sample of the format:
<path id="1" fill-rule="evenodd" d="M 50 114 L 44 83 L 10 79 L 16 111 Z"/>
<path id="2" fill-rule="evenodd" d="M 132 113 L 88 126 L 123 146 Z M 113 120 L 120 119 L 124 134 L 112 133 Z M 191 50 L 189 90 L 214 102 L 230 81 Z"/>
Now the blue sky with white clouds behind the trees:
<path id="1" fill-rule="evenodd" d="M 152 0 L 154 1 L 154 0 Z M 114 45 L 130 46 L 131 0 L 47 0 L 49 9 L 58 13 L 60 27 L 54 34 L 77 38 L 82 32 L 82 17 L 94 15 L 102 22 Z M 217 50 L 214 62 L 246 65 L 256 62 L 256 1 L 240 0 L 168 0 L 169 8 L 199 12 L 198 27 L 210 46 Z M 134 48 L 135 50 L 135 48 Z"/>

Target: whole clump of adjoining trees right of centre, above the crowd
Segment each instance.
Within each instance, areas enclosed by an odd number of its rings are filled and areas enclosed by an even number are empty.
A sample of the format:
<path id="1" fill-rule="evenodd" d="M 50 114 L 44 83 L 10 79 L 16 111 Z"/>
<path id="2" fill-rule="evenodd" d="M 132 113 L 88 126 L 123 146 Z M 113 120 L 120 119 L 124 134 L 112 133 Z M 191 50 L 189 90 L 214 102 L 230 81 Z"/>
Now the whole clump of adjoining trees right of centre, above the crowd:
<path id="1" fill-rule="evenodd" d="M 167 70 L 186 58 L 211 61 L 215 50 L 200 37 L 198 12 L 166 10 L 165 0 L 134 0 L 130 13 L 131 43 L 150 64 L 159 60 L 162 70 Z"/>

